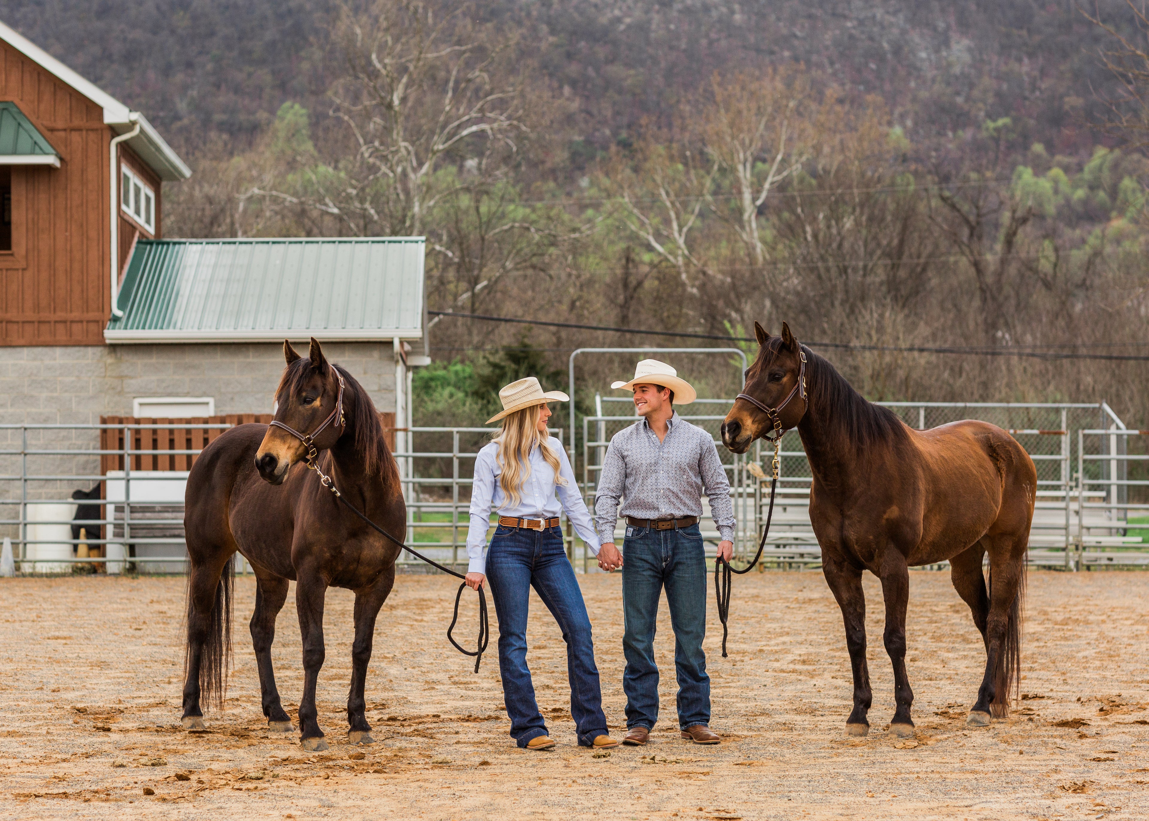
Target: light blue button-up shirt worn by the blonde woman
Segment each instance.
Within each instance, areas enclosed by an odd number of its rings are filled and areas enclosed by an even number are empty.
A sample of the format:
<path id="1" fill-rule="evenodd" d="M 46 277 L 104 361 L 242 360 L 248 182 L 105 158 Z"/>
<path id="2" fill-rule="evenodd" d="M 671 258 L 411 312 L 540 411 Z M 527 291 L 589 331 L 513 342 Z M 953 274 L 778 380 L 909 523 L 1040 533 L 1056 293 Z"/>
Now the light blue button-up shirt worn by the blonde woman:
<path id="1" fill-rule="evenodd" d="M 517 519 L 554 519 L 561 511 L 574 525 L 591 552 L 599 555 L 599 536 L 594 531 L 591 514 L 583 501 L 574 471 L 562 444 L 555 437 L 548 440 L 550 450 L 558 456 L 558 473 L 566 479 L 565 484 L 555 483 L 555 471 L 542 458 L 542 451 L 535 447 L 531 451 L 531 475 L 523 481 L 519 489 L 522 497 L 518 505 L 511 505 L 499 484 L 499 443 L 484 445 L 475 458 L 475 484 L 471 485 L 471 527 L 466 532 L 468 573 L 486 573 L 487 530 L 491 528 L 492 508 L 500 516 Z"/>

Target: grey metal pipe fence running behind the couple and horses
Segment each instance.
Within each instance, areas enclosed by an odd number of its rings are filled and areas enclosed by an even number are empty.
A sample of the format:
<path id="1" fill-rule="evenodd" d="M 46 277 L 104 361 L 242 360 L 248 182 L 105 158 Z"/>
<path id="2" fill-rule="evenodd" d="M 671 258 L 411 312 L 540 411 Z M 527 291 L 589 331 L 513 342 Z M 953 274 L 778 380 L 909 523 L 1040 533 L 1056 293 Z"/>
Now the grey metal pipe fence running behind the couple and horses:
<path id="1" fill-rule="evenodd" d="M 684 408 L 701 413 L 683 419 L 708 430 L 718 427 L 733 400 L 700 399 Z M 602 459 L 610 437 L 634 423 L 620 405 L 629 398 L 595 397 L 585 416 L 578 446 L 566 431 L 552 433 L 574 451 L 573 467 L 593 511 Z M 957 419 L 985 419 L 1009 430 L 1038 466 L 1038 504 L 1030 539 L 1034 565 L 1084 569 L 1149 566 L 1149 431 L 1126 430 L 1104 404 L 888 402 L 911 427 L 931 428 Z M 614 407 L 611 407 L 614 406 Z M 154 424 L 7 424 L 0 425 L 0 535 L 11 539 L 22 571 L 63 571 L 71 565 L 102 565 L 109 571 L 183 570 L 183 491 L 187 471 L 140 470 L 139 458 L 194 456 L 194 448 L 133 446 L 133 431 L 171 428 Z M 180 429 L 222 430 L 230 424 L 184 424 Z M 441 563 L 465 567 L 470 524 L 470 489 L 475 458 L 498 429 L 416 428 L 396 437 L 395 456 L 407 499 L 407 544 Z M 100 431 L 122 433 L 121 446 L 100 446 Z M 111 436 L 103 437 L 113 439 Z M 720 444 L 720 443 L 719 443 Z M 769 450 L 769 448 L 768 448 Z M 770 453 L 761 443 L 747 454 L 718 447 L 731 485 L 738 520 L 735 555 L 757 548 L 765 521 Z M 113 458 L 122 470 L 101 467 Z M 768 565 L 785 568 L 820 562 L 820 548 L 809 520 L 809 463 L 795 431 L 786 433 L 773 525 L 765 551 Z M 70 498 L 74 490 L 101 484 L 98 499 Z M 78 520 L 76 508 L 94 505 L 99 513 Z M 718 534 L 703 504 L 703 537 L 710 554 Z M 91 511 L 88 514 L 91 515 Z M 71 525 L 84 525 L 83 538 Z M 69 529 L 63 532 L 63 529 Z M 577 569 L 593 571 L 589 551 L 563 516 L 568 557 Z M 618 534 L 622 529 L 619 528 Z M 91 555 L 77 554 L 87 546 Z M 404 569 L 422 569 L 403 553 Z"/>

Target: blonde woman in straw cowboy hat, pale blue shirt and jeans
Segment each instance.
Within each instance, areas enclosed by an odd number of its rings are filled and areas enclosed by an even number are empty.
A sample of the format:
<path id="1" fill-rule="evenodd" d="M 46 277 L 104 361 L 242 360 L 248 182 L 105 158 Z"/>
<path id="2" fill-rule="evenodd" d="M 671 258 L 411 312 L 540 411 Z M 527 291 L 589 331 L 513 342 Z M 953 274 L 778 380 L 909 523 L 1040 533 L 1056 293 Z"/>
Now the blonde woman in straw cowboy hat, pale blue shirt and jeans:
<path id="1" fill-rule="evenodd" d="M 529 376 L 499 391 L 499 399 L 503 410 L 487 424 L 501 419 L 502 430 L 475 459 L 466 583 L 476 590 L 488 584 L 495 601 L 499 673 L 511 738 L 527 750 L 555 746 L 539 714 L 526 667 L 526 615 L 533 586 L 566 642 L 571 718 L 579 745 L 616 747 L 618 742 L 607 735 L 607 716 L 602 713 L 591 620 L 558 527 L 558 513 L 566 511 L 587 547 L 599 554 L 599 537 L 570 461 L 558 439 L 547 436 L 547 402 L 565 402 L 568 397 L 560 391 L 543 393 L 539 381 Z M 492 507 L 499 511 L 499 527 L 484 555 Z"/>

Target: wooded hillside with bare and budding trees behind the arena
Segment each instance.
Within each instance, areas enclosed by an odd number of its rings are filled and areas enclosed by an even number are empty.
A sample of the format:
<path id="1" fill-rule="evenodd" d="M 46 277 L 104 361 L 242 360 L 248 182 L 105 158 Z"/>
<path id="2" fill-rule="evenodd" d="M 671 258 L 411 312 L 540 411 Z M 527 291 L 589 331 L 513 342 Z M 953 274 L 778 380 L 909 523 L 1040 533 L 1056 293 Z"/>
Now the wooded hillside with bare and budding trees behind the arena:
<path id="1" fill-rule="evenodd" d="M 1144 45 L 1124 2 L 1097 9 Z M 1106 399 L 1146 425 L 1149 367 L 1113 358 L 1149 355 L 1149 167 L 1102 128 L 1127 89 L 1073 2 L 55 0 L 2 18 L 184 153 L 169 236 L 425 233 L 435 310 L 725 337 L 786 320 L 890 348 L 819 348 L 874 399 Z M 441 360 L 724 344 L 433 321 Z M 716 394 L 735 378 L 684 370 Z"/>

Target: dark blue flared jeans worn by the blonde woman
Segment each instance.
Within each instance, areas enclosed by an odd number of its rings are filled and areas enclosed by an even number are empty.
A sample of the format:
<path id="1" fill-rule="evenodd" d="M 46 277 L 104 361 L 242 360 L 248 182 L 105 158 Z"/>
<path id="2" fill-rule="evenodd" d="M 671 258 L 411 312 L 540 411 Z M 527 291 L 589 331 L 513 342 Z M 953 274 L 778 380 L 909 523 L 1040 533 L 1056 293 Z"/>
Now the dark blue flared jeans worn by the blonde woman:
<path id="1" fill-rule="evenodd" d="M 532 738 L 547 735 L 526 666 L 526 616 L 533 586 L 563 631 L 571 718 L 578 743 L 592 746 L 596 736 L 607 735 L 607 716 L 602 712 L 599 668 L 594 663 L 591 619 L 563 550 L 562 530 L 500 525 L 487 553 L 487 583 L 499 616 L 499 673 L 511 738 L 525 747 Z"/>

